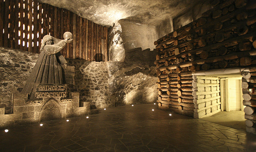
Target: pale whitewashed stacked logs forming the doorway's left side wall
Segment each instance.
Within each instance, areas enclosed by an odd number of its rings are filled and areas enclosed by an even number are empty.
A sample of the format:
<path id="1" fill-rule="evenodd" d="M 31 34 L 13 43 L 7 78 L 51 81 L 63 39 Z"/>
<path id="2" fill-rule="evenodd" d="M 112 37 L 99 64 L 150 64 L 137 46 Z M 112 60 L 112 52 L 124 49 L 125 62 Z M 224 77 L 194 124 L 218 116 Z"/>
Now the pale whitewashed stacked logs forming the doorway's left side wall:
<path id="1" fill-rule="evenodd" d="M 193 75 L 194 117 L 203 118 L 220 112 L 219 77 Z"/>

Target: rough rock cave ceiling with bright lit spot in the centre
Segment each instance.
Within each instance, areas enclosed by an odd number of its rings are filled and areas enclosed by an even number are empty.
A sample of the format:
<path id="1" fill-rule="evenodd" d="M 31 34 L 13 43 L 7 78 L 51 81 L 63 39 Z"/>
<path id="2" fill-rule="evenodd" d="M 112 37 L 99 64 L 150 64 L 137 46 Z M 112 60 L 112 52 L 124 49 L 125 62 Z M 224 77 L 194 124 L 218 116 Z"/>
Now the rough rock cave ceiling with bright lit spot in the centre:
<path id="1" fill-rule="evenodd" d="M 125 19 L 137 24 L 157 26 L 205 0 L 39 0 L 64 8 L 102 26 Z"/>

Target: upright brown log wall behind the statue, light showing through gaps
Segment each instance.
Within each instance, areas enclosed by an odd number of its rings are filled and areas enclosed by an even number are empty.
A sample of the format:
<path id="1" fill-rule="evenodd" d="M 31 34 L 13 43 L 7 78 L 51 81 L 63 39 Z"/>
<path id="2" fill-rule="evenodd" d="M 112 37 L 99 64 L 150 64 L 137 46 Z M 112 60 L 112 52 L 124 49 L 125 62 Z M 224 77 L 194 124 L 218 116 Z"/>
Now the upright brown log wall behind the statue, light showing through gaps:
<path id="1" fill-rule="evenodd" d="M 65 58 L 108 61 L 108 28 L 37 0 L 0 0 L 0 47 L 39 53 L 43 36 L 63 39 L 73 34 L 73 43 L 61 51 Z"/>

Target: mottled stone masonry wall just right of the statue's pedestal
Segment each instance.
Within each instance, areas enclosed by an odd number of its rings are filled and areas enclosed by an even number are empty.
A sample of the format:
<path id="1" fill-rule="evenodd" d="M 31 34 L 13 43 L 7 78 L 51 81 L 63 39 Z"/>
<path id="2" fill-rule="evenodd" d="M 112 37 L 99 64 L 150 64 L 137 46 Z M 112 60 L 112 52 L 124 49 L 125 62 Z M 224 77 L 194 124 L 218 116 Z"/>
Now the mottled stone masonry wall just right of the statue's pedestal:
<path id="1" fill-rule="evenodd" d="M 75 85 L 68 92 L 79 92 L 80 102 L 91 102 L 91 108 L 106 108 L 113 104 L 109 98 L 108 74 L 105 62 L 67 60 L 75 66 Z"/>

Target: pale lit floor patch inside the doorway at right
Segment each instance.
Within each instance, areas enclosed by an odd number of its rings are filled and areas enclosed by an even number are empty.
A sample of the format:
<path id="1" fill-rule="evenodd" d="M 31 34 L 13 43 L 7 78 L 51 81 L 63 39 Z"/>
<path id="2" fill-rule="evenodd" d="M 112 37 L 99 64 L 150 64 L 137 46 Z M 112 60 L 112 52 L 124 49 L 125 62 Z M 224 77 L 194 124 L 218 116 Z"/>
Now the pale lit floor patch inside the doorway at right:
<path id="1" fill-rule="evenodd" d="M 201 119 L 240 131 L 246 131 L 246 119 L 244 119 L 243 111 L 220 111 L 217 114 Z"/>

